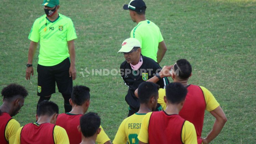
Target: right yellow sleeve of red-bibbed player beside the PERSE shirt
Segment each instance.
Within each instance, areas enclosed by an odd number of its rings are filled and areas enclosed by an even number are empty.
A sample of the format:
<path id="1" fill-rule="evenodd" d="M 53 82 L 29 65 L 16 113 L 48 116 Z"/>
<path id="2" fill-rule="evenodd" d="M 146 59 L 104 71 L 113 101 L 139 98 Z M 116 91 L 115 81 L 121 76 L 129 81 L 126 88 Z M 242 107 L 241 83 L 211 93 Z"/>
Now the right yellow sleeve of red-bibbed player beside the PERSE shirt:
<path id="1" fill-rule="evenodd" d="M 181 133 L 181 139 L 184 144 L 197 144 L 196 129 L 192 123 L 185 121 Z"/>

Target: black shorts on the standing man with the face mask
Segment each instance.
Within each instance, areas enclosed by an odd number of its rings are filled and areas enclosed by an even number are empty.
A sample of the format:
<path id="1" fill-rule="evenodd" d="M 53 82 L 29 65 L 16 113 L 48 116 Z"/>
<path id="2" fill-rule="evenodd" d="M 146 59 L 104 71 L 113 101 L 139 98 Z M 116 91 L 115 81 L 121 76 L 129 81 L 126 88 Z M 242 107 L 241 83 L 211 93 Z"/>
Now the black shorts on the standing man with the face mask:
<path id="1" fill-rule="evenodd" d="M 61 94 L 71 94 L 73 81 L 69 77 L 69 58 L 54 66 L 42 66 L 38 64 L 38 96 L 49 96 L 55 93 L 55 82 Z"/>

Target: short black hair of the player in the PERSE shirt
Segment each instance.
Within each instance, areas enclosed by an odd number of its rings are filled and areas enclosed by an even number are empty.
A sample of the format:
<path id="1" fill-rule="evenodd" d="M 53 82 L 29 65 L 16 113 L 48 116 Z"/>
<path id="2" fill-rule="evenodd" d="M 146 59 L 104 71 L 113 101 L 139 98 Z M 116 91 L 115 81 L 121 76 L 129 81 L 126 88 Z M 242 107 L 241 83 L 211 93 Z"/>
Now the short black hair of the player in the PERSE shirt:
<path id="1" fill-rule="evenodd" d="M 138 97 L 140 103 L 148 103 L 152 96 L 158 95 L 159 85 L 153 82 L 142 82 L 138 87 Z"/>

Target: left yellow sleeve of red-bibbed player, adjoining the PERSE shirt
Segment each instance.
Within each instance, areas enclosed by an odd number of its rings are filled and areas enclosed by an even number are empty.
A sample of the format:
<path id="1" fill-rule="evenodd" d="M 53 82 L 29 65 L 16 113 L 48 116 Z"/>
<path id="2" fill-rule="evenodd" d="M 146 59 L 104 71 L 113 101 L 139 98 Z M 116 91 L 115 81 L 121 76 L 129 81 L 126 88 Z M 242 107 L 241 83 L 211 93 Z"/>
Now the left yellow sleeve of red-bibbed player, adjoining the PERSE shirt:
<path id="1" fill-rule="evenodd" d="M 151 114 L 152 114 L 152 112 L 147 113 L 142 120 L 141 129 L 140 129 L 140 133 L 138 135 L 138 139 L 139 139 L 139 141 L 141 141 L 143 143 L 148 143 L 148 124 L 149 124 Z"/>

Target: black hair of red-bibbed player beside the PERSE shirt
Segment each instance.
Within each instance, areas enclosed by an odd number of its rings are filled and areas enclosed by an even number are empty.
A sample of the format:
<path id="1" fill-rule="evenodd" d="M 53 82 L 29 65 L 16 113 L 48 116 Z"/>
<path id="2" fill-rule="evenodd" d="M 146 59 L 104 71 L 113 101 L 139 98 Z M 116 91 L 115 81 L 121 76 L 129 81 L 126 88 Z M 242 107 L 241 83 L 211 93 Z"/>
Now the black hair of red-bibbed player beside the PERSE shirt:
<path id="1" fill-rule="evenodd" d="M 169 83 L 165 91 L 167 100 L 173 104 L 182 102 L 187 95 L 187 88 L 179 82 Z"/>

